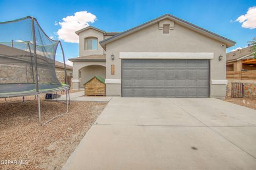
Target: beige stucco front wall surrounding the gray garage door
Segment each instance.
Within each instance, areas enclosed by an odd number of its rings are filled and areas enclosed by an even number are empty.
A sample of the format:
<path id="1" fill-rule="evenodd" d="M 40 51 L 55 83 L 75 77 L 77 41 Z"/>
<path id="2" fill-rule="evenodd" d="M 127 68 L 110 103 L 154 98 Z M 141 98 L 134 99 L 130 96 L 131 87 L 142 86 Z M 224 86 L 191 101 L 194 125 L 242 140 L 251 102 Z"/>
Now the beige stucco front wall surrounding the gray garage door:
<path id="1" fill-rule="evenodd" d="M 106 79 L 121 79 L 120 52 L 207 52 L 214 53 L 214 59 L 210 60 L 210 80 L 226 80 L 226 45 L 221 47 L 222 44 L 176 23 L 169 34 L 163 34 L 156 23 L 106 45 Z M 111 54 L 115 55 L 114 61 Z M 223 56 L 221 61 L 219 55 Z M 115 65 L 115 75 L 111 75 L 111 64 Z M 107 84 L 107 95 L 121 96 L 121 84 Z M 226 85 L 211 85 L 210 96 L 225 97 Z"/>

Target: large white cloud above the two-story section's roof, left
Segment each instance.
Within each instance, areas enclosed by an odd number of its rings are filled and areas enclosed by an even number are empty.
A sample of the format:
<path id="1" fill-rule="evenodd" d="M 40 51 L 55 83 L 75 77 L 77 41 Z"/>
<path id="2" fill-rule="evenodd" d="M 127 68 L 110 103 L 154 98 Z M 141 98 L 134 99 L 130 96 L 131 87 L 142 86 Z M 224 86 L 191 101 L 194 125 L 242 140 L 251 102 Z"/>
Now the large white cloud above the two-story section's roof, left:
<path id="1" fill-rule="evenodd" d="M 95 15 L 87 11 L 76 12 L 74 15 L 67 16 L 59 22 L 61 28 L 57 31 L 59 39 L 68 43 L 78 43 L 79 39 L 75 31 L 83 29 L 89 26 L 89 23 L 93 23 L 97 18 Z"/>

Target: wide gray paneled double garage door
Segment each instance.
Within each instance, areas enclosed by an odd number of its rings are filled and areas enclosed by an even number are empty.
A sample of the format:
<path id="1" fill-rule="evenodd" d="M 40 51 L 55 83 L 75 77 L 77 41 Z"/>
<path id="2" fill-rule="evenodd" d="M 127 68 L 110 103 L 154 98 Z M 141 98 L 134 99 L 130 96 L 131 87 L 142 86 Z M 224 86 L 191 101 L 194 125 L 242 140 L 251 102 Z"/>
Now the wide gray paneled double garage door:
<path id="1" fill-rule="evenodd" d="M 123 97 L 209 97 L 209 60 L 122 60 Z"/>

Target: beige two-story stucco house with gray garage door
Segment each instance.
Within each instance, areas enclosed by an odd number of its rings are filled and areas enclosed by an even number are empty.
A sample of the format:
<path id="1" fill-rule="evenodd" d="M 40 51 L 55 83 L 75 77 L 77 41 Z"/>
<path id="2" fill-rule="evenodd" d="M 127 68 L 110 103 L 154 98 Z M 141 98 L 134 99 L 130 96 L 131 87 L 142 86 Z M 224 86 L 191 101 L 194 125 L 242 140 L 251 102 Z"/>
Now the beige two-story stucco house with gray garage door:
<path id="1" fill-rule="evenodd" d="M 124 32 L 86 27 L 73 61 L 73 87 L 106 78 L 106 95 L 226 96 L 226 48 L 235 42 L 165 14 Z"/>

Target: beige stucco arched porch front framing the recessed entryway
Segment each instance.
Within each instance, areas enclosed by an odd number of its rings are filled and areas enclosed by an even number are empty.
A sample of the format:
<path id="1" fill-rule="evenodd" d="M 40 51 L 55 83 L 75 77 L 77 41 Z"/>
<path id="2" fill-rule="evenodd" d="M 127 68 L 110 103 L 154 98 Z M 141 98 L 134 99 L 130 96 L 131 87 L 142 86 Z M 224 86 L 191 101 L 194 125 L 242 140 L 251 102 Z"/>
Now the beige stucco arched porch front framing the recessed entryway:
<path id="1" fill-rule="evenodd" d="M 106 67 L 106 62 L 73 62 L 73 89 L 79 89 L 79 70 L 90 65 L 100 65 Z"/>

